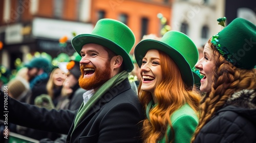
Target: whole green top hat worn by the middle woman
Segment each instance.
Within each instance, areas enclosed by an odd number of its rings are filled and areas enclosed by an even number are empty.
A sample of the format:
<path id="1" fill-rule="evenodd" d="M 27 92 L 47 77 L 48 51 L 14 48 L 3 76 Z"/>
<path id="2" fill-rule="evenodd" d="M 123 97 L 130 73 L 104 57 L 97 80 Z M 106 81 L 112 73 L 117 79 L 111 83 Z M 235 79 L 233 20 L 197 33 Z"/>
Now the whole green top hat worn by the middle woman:
<path id="1" fill-rule="evenodd" d="M 188 36 L 178 31 L 168 31 L 160 41 L 153 39 L 140 41 L 134 51 L 139 67 L 141 67 L 146 52 L 153 49 L 163 51 L 169 55 L 179 67 L 184 83 L 188 87 L 194 85 L 191 69 L 198 61 L 198 50 Z"/>

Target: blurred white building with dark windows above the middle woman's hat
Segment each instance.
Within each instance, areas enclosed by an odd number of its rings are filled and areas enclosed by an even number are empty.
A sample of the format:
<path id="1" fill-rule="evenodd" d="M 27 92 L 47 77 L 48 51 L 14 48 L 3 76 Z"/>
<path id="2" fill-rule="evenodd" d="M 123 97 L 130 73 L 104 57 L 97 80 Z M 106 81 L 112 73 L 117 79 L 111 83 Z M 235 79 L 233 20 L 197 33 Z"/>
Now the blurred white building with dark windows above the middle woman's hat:
<path id="1" fill-rule="evenodd" d="M 188 35 L 196 46 L 203 46 L 221 30 L 217 19 L 224 15 L 225 0 L 175 0 L 172 30 Z"/>

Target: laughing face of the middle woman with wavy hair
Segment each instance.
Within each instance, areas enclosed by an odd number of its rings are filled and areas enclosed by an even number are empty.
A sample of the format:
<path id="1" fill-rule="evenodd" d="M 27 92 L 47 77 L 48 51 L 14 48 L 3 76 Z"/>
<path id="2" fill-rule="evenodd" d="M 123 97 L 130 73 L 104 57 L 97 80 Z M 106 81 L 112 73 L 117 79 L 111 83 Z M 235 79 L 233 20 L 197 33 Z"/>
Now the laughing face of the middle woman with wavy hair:
<path id="1" fill-rule="evenodd" d="M 141 89 L 149 91 L 154 95 L 156 86 L 163 78 L 160 56 L 157 50 L 147 51 L 145 57 L 142 59 L 140 75 L 142 77 Z"/>

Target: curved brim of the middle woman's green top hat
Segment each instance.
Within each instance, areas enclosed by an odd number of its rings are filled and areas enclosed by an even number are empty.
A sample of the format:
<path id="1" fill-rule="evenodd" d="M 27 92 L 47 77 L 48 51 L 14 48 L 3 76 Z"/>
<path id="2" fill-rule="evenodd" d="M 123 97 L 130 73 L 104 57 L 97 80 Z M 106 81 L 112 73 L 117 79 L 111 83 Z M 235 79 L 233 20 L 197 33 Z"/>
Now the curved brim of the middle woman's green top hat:
<path id="1" fill-rule="evenodd" d="M 134 54 L 139 67 L 141 67 L 142 59 L 149 50 L 160 50 L 169 55 L 179 67 L 183 82 L 188 87 L 194 85 L 193 73 L 185 58 L 173 47 L 161 41 L 146 39 L 137 44 Z"/>

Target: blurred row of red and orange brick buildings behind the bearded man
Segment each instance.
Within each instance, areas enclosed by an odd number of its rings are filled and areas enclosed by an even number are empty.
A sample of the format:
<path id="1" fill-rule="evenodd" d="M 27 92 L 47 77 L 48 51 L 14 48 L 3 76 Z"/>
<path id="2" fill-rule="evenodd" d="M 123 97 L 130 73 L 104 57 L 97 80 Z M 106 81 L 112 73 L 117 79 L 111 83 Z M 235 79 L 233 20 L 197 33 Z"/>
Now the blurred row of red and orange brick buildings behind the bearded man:
<path id="1" fill-rule="evenodd" d="M 137 44 L 143 35 L 161 36 L 162 14 L 170 25 L 172 1 L 164 0 L 3 0 L 0 1 L 0 64 L 15 68 L 14 60 L 26 62 L 26 55 L 46 52 L 53 58 L 64 52 L 72 55 L 73 33 L 91 33 L 101 18 L 120 20 L 135 34 Z M 59 38 L 68 37 L 67 47 Z M 131 51 L 133 54 L 133 50 Z"/>

